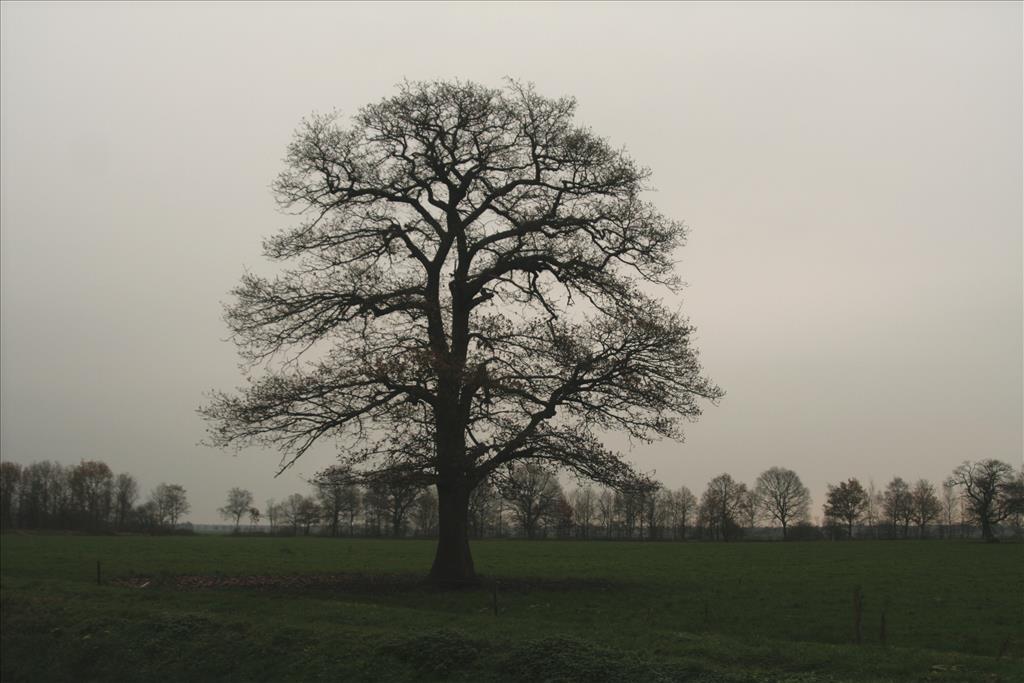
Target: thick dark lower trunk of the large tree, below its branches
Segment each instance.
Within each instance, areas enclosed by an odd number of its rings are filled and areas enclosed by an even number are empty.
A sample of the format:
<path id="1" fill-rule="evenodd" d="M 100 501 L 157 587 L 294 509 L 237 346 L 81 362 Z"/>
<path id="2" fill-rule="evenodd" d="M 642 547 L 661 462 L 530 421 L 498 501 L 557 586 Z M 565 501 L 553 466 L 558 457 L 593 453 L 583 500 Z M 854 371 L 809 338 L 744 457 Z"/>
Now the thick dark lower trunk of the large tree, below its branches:
<path id="1" fill-rule="evenodd" d="M 477 582 L 469 552 L 469 485 L 465 481 L 437 483 L 437 552 L 430 581 L 445 588 Z"/>

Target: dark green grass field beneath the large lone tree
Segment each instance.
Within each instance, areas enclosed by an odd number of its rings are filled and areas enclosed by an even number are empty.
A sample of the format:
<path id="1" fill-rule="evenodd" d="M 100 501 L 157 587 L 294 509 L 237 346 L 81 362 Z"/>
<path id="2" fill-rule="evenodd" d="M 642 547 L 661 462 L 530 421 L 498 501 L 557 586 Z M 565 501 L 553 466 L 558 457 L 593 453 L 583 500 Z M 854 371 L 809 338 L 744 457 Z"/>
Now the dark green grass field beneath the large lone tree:
<path id="1" fill-rule="evenodd" d="M 478 571 L 498 581 L 497 615 L 487 582 L 456 592 L 420 584 L 432 553 L 419 541 L 4 536 L 0 673 L 4 681 L 1024 680 L 1022 545 L 475 543 Z M 254 574 L 345 577 L 213 588 L 176 579 Z M 146 579 L 118 583 L 133 577 Z"/>

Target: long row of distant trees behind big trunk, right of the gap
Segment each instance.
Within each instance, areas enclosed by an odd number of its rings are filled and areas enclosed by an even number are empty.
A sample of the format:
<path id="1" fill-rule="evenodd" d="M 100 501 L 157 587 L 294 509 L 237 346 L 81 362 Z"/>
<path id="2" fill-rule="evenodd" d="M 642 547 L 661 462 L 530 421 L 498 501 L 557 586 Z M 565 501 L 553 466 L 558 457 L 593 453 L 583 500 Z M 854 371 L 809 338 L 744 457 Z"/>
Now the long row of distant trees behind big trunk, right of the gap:
<path id="1" fill-rule="evenodd" d="M 811 494 L 793 470 L 772 467 L 753 486 L 729 474 L 712 479 L 699 499 L 686 486 L 651 483 L 631 490 L 580 485 L 567 492 L 539 463 L 518 464 L 478 486 L 469 504 L 472 538 L 709 540 L 1020 538 L 1024 473 L 999 461 L 965 463 L 942 484 L 909 484 L 895 477 L 884 490 L 849 479 L 828 486 L 823 523 L 811 521 Z M 437 497 L 399 476 L 354 483 L 332 468 L 309 495 L 267 501 L 262 513 L 252 494 L 232 488 L 221 514 L 241 530 L 262 519 L 272 533 L 431 537 Z M 261 527 L 263 529 L 267 527 Z"/>

